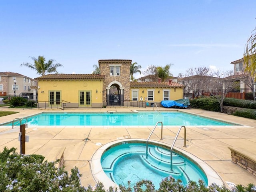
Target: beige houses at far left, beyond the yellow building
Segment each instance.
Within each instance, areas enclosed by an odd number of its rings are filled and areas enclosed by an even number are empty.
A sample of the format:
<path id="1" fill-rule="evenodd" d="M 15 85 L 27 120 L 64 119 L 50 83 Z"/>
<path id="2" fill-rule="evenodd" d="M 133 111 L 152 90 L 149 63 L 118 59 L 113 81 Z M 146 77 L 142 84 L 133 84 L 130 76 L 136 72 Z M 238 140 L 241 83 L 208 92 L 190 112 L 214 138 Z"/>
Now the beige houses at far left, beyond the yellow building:
<path id="1" fill-rule="evenodd" d="M 15 94 L 36 100 L 36 88 L 36 81 L 32 78 L 14 72 L 0 72 L 0 96 Z"/>

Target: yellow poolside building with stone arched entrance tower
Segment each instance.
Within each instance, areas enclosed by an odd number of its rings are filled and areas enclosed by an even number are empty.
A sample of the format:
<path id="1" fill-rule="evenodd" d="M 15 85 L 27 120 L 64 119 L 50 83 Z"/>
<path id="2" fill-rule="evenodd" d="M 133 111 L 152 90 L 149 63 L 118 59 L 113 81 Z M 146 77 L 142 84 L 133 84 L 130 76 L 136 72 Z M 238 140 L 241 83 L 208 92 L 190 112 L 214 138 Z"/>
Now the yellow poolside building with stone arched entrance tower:
<path id="1" fill-rule="evenodd" d="M 183 98 L 181 84 L 130 82 L 132 60 L 99 60 L 100 74 L 48 74 L 38 81 L 38 106 L 101 108 L 128 106 L 132 101 L 157 102 Z"/>

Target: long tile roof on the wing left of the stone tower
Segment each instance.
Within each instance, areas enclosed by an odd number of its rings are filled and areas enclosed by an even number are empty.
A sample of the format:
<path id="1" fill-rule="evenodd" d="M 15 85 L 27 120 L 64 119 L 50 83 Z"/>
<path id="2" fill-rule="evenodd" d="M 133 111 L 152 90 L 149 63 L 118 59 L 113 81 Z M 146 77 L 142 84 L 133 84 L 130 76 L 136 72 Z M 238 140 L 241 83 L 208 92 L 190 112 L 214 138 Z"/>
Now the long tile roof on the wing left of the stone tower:
<path id="1" fill-rule="evenodd" d="M 47 74 L 35 78 L 36 80 L 50 80 L 50 79 L 104 79 L 100 74 Z"/>

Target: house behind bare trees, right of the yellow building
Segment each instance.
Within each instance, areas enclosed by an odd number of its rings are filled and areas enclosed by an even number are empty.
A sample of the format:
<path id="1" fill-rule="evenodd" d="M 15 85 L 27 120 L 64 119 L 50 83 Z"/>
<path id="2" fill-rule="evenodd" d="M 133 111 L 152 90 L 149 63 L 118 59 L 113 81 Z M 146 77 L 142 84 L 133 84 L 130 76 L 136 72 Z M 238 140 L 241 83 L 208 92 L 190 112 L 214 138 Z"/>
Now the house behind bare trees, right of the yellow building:
<path id="1" fill-rule="evenodd" d="M 184 86 L 184 98 L 194 98 L 212 94 L 214 88 L 211 82 L 216 80 L 220 80 L 220 78 L 194 75 L 178 78 L 178 83 Z"/>

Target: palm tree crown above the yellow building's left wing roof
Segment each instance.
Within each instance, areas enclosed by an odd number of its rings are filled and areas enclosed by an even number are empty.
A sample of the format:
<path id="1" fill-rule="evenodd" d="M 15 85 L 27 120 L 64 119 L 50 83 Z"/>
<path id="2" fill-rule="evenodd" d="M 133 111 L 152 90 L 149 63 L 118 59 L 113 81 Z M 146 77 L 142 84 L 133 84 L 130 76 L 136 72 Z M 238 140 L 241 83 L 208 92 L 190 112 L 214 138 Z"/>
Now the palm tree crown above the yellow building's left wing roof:
<path id="1" fill-rule="evenodd" d="M 56 63 L 53 64 L 54 60 L 50 59 L 48 62 L 45 62 L 44 56 L 38 56 L 38 58 L 30 57 L 34 61 L 33 64 L 23 63 L 20 66 L 26 66 L 30 69 L 36 70 L 36 74 L 45 75 L 46 73 L 57 73 L 57 67 L 61 67 L 62 64 Z"/>

